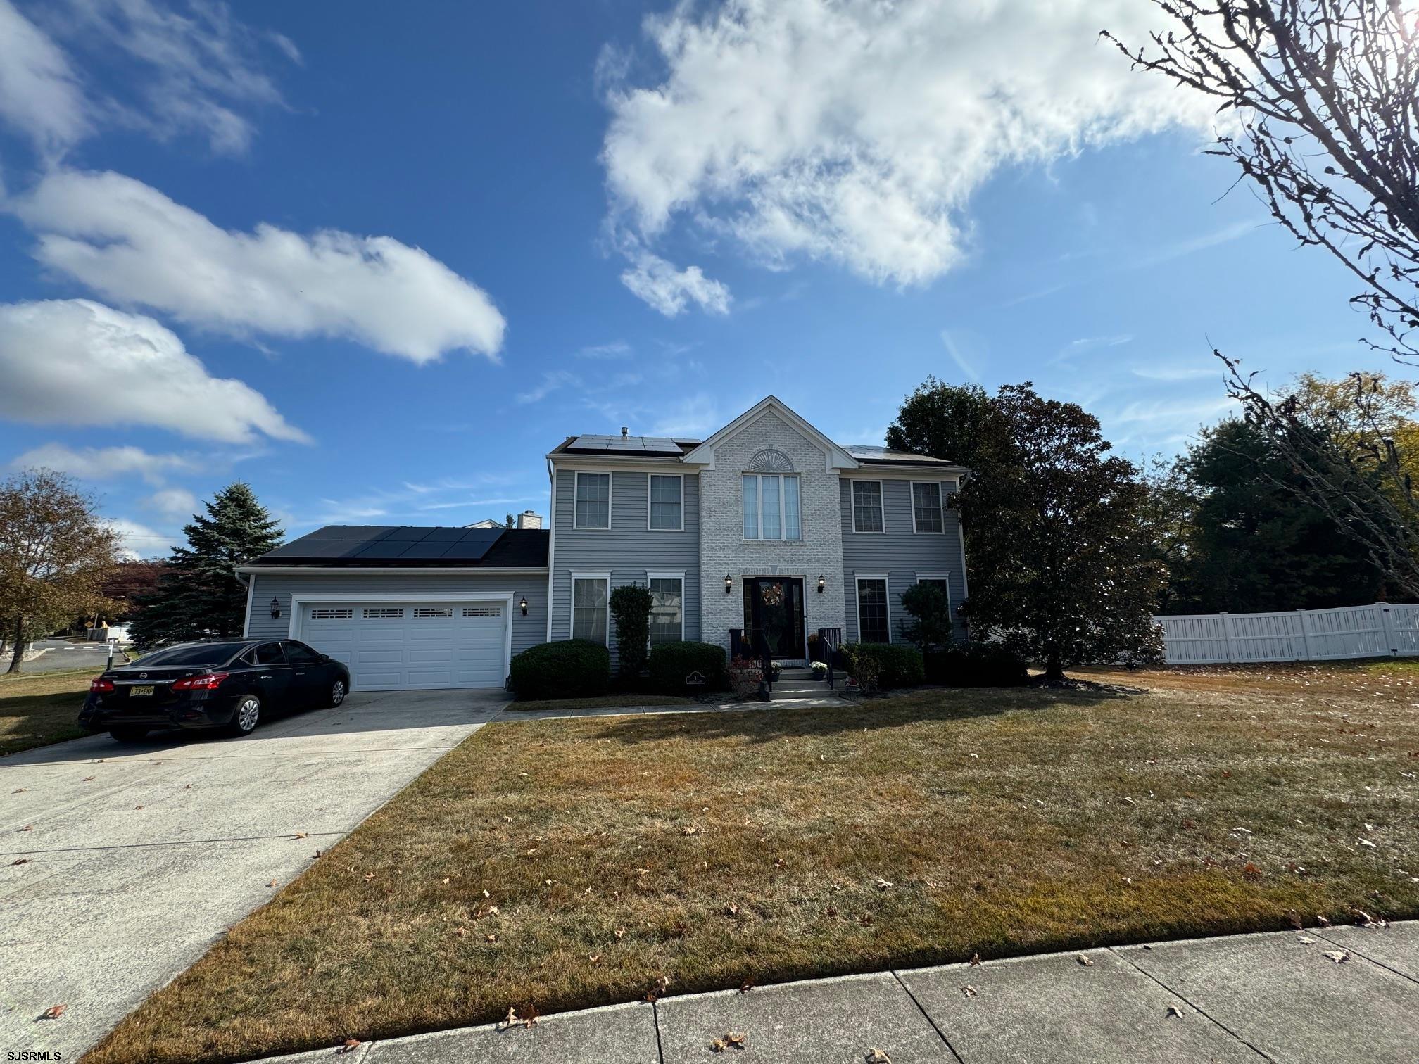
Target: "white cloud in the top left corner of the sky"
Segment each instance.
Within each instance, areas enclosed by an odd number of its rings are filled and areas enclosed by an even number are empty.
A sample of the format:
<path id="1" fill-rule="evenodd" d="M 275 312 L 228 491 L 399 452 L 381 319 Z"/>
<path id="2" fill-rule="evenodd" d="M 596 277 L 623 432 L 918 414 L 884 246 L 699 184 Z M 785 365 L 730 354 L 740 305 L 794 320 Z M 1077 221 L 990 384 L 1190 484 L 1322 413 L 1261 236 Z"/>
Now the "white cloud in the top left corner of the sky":
<path id="1" fill-rule="evenodd" d="M 10 0 L 0 0 L 0 119 L 27 133 L 47 156 L 92 129 L 68 57 Z"/>

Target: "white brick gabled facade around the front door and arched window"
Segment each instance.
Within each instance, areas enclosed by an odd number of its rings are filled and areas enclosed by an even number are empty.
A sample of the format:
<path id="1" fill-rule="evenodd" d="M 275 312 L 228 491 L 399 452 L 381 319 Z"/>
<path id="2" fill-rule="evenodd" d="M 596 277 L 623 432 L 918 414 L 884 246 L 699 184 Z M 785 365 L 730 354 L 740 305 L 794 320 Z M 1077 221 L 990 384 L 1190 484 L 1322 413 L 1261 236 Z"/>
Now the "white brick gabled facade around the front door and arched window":
<path id="1" fill-rule="evenodd" d="M 788 455 L 800 478 L 803 538 L 796 542 L 744 538 L 742 477 L 755 454 L 772 447 Z M 807 634 L 820 627 L 846 630 L 843 589 L 843 518 L 837 472 L 827 470 L 827 451 L 773 410 L 714 451 L 714 468 L 700 474 L 701 638 L 729 648 L 729 628 L 744 627 L 745 576 L 795 576 L 803 580 Z M 725 594 L 724 577 L 734 577 Z M 817 577 L 826 587 L 817 593 Z"/>

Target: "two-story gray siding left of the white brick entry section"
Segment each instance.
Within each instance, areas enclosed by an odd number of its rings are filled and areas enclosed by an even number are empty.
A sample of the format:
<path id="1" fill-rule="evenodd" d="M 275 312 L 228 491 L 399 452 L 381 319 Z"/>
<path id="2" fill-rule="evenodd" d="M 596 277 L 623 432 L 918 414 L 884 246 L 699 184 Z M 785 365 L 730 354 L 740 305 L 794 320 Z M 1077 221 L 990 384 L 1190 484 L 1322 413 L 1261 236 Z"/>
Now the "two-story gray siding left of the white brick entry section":
<path id="1" fill-rule="evenodd" d="M 667 471 L 678 472 L 678 470 Z M 556 471 L 552 528 L 552 640 L 572 637 L 572 573 L 612 575 L 612 589 L 646 583 L 648 572 L 685 573 L 681 610 L 685 638 L 700 638 L 700 477 L 685 475 L 684 531 L 651 532 L 650 474 L 612 471 L 612 526 L 578 529 L 573 525 L 576 471 Z M 616 628 L 609 633 L 612 657 L 616 653 Z"/>

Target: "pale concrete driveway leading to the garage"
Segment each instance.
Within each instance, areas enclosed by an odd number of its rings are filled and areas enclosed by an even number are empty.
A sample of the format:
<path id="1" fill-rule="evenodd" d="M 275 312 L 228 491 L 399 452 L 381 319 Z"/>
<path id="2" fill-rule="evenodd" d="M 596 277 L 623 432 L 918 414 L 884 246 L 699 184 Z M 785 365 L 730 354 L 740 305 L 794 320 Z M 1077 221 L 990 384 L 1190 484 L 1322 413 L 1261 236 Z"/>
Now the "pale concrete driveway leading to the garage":
<path id="1" fill-rule="evenodd" d="M 0 1055 L 78 1058 L 505 704 L 356 694 L 244 739 L 98 735 L 0 759 Z"/>

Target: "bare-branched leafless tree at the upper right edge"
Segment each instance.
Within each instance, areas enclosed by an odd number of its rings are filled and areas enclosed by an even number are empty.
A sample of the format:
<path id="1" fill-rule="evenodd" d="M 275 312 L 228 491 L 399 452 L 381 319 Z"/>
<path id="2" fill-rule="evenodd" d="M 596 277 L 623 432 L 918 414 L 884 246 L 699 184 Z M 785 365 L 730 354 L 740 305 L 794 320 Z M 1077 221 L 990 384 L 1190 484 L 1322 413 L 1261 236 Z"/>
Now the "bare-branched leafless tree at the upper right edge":
<path id="1" fill-rule="evenodd" d="M 1151 0 L 1172 28 L 1151 45 L 1105 37 L 1134 65 L 1216 98 L 1213 155 L 1232 159 L 1271 216 L 1361 282 L 1398 362 L 1419 365 L 1419 21 L 1399 0 Z M 1371 375 L 1330 411 L 1273 396 L 1237 359 L 1227 393 L 1287 460 L 1286 487 L 1358 539 L 1419 597 L 1413 453 L 1384 419 Z"/>

